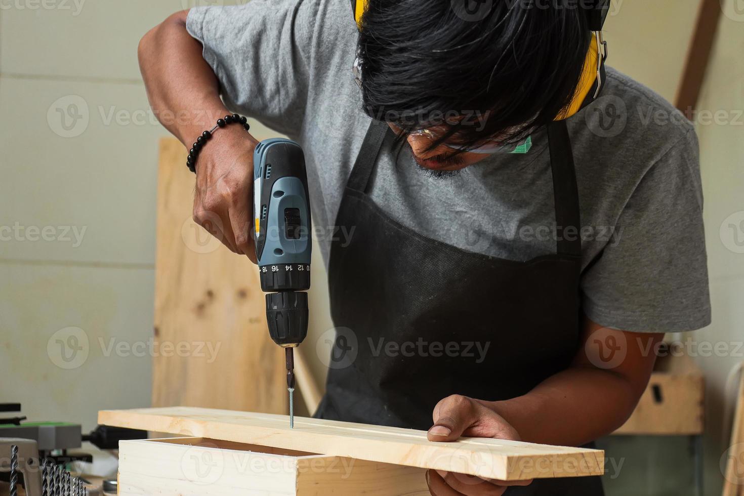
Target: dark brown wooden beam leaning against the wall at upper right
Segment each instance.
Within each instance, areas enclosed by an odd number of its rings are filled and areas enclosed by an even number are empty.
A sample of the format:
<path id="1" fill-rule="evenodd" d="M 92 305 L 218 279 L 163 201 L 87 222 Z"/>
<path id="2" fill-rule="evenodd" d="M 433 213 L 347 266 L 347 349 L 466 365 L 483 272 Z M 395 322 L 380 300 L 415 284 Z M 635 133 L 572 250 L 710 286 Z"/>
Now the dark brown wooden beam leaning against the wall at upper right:
<path id="1" fill-rule="evenodd" d="M 677 109 L 688 117 L 691 117 L 691 111 L 696 108 L 700 97 L 700 89 L 705 80 L 705 71 L 708 70 L 721 13 L 720 0 L 700 2 L 695 32 L 690 39 L 682 81 L 676 97 Z"/>

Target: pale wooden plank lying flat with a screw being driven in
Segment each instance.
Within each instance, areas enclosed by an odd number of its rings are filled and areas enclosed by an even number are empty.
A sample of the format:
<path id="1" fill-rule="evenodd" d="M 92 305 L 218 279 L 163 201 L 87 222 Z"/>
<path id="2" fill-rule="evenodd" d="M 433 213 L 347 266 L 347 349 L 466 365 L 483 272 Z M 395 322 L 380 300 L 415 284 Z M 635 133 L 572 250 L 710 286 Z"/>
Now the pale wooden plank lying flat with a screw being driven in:
<path id="1" fill-rule="evenodd" d="M 336 457 L 434 468 L 499 480 L 600 475 L 604 453 L 502 439 L 430 442 L 425 431 L 204 408 L 108 410 L 98 423 L 224 439 Z"/>

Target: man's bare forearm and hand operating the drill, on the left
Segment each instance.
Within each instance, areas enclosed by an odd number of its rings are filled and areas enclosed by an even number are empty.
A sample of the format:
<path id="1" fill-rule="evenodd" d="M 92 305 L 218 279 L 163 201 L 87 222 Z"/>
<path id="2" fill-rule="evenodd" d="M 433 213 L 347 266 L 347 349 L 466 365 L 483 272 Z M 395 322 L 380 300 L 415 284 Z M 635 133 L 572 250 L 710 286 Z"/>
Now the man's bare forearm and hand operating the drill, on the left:
<path id="1" fill-rule="evenodd" d="M 229 112 L 219 97 L 217 76 L 202 57 L 202 44 L 186 29 L 187 13 L 173 14 L 143 36 L 138 57 L 153 112 L 189 149 L 200 133 Z M 251 229 L 257 144 L 243 126 L 215 129 L 196 159 L 193 200 L 194 221 L 254 263 Z"/>

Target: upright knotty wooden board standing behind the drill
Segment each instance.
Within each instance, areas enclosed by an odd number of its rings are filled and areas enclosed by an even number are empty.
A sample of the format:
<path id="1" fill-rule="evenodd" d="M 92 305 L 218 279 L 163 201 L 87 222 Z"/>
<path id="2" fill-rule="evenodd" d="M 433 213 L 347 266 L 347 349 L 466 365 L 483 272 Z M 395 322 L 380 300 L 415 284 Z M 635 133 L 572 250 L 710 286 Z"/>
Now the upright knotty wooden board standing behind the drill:
<path id="1" fill-rule="evenodd" d="M 269 338 L 257 268 L 192 222 L 186 153 L 161 140 L 153 405 L 286 413 L 284 352 Z"/>

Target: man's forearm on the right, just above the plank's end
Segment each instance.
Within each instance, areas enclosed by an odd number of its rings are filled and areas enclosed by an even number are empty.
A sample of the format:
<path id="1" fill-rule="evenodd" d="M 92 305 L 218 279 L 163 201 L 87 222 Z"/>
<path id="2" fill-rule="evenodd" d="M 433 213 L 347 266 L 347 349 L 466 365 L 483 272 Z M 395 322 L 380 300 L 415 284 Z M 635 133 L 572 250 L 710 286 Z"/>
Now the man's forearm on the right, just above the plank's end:
<path id="1" fill-rule="evenodd" d="M 639 397 L 638 387 L 620 374 L 572 367 L 525 396 L 492 406 L 524 441 L 580 446 L 623 425 Z"/>

